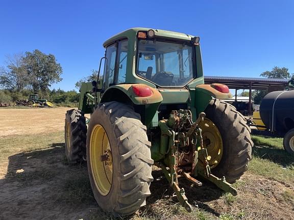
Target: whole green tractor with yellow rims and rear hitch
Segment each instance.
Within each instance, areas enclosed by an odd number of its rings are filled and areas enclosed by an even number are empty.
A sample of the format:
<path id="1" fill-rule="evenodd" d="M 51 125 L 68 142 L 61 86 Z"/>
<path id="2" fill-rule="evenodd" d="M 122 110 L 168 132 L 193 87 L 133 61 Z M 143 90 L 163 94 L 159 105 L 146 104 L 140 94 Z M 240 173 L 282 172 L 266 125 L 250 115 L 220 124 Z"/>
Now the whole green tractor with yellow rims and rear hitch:
<path id="1" fill-rule="evenodd" d="M 71 163 L 87 160 L 104 211 L 130 215 L 145 205 L 153 164 L 187 211 L 180 178 L 237 194 L 230 183 L 247 171 L 250 128 L 235 107 L 219 100 L 231 97 L 227 86 L 204 84 L 199 40 L 133 28 L 103 44 L 97 81 L 81 86 L 79 109 L 66 113 L 65 153 Z"/>

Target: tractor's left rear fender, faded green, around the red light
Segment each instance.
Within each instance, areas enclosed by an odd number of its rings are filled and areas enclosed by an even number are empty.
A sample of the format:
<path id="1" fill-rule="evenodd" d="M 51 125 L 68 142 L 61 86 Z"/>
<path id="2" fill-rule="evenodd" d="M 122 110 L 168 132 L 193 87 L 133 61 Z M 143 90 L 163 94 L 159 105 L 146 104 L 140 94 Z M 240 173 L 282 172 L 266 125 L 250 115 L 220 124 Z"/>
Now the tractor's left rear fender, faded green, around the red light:
<path id="1" fill-rule="evenodd" d="M 140 97 L 135 94 L 133 90 L 133 86 L 143 86 L 149 88 L 152 94 L 146 97 Z M 126 100 L 128 98 L 129 100 Z M 118 101 L 118 102 L 129 102 L 131 101 L 135 105 L 145 105 L 145 104 L 154 104 L 161 103 L 162 96 L 159 91 L 155 88 L 144 84 L 120 84 L 109 87 L 102 95 L 101 102 L 110 102 L 110 101 Z"/>

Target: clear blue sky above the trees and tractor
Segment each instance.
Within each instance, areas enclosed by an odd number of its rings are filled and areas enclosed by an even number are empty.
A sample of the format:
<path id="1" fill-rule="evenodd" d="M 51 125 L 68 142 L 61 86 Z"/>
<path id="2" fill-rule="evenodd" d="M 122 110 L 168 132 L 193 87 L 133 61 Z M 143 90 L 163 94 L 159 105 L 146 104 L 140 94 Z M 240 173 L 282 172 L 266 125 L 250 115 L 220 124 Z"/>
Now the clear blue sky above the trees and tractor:
<path id="1" fill-rule="evenodd" d="M 258 77 L 274 66 L 294 73 L 294 1 L 0 0 L 5 55 L 39 49 L 63 68 L 53 88 L 70 90 L 97 69 L 103 42 L 132 27 L 201 37 L 205 75 Z"/>

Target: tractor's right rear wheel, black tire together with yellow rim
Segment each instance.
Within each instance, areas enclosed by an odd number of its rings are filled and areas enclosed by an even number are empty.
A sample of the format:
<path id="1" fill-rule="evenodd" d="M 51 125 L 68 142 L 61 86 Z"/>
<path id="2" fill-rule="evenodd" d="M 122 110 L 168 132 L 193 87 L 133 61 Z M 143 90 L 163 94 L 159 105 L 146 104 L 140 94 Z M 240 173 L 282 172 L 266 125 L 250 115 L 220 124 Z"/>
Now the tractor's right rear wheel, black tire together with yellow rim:
<path id="1" fill-rule="evenodd" d="M 228 182 L 234 183 L 247 171 L 252 159 L 250 128 L 244 117 L 227 102 L 213 99 L 205 113 L 207 123 L 201 126 L 204 147 L 208 154 L 212 152 L 213 160 L 209 162 L 213 163 L 216 158 L 215 164 L 210 164 L 211 172 L 218 177 L 225 176 Z M 206 127 L 212 125 L 216 128 L 207 130 Z"/>

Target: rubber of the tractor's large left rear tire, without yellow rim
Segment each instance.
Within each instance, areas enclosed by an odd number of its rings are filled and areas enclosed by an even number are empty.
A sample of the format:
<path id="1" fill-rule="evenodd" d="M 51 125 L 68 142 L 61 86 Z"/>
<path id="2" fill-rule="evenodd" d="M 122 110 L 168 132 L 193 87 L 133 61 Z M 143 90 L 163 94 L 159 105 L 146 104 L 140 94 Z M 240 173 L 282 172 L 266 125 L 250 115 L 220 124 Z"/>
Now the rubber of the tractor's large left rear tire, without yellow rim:
<path id="1" fill-rule="evenodd" d="M 90 141 L 95 125 L 105 129 L 112 151 L 113 179 L 109 193 L 100 194 L 91 170 Z M 99 206 L 115 216 L 133 214 L 150 196 L 152 164 L 146 126 L 131 106 L 119 102 L 99 104 L 92 114 L 87 135 L 88 173 Z"/>

